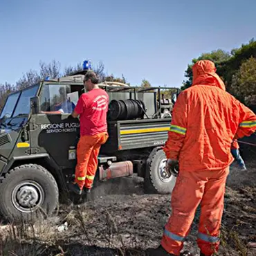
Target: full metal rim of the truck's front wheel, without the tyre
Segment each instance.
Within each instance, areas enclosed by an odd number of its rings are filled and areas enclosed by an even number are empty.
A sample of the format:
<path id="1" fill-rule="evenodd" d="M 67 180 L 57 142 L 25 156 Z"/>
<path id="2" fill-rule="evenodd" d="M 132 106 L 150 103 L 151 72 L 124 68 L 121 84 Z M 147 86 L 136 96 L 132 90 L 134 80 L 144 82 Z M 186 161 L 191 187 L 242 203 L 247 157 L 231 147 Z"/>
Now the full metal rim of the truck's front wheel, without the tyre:
<path id="1" fill-rule="evenodd" d="M 34 212 L 44 201 L 44 190 L 35 181 L 19 183 L 12 191 L 12 203 L 20 212 Z"/>

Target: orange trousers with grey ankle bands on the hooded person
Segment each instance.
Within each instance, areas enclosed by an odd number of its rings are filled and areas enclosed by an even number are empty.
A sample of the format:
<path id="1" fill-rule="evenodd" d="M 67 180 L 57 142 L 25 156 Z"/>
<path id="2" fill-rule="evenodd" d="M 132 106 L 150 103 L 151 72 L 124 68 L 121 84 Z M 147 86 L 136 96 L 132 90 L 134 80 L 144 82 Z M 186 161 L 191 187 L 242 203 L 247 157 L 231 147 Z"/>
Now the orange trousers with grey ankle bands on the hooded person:
<path id="1" fill-rule="evenodd" d="M 221 171 L 179 173 L 172 192 L 172 215 L 161 241 L 168 253 L 180 255 L 199 203 L 201 215 L 197 244 L 206 256 L 217 252 L 228 173 L 229 167 Z"/>

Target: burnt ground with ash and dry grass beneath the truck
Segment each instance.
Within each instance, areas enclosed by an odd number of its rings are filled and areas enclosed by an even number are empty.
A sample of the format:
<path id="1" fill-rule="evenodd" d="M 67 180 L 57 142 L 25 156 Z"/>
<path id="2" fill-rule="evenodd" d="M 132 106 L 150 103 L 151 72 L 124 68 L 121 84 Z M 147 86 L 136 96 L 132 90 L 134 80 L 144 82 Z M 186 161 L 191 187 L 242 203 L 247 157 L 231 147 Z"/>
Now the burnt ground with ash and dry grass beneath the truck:
<path id="1" fill-rule="evenodd" d="M 218 255 L 256 255 L 256 161 L 248 171 L 230 170 Z M 61 205 L 58 214 L 35 226 L 4 226 L 0 255 L 145 255 L 158 246 L 170 216 L 170 195 L 144 194 L 143 179 L 122 178 L 101 183 L 93 201 Z M 185 249 L 196 247 L 197 212 Z M 66 223 L 66 224 L 64 224 Z M 117 248 L 117 249 L 116 249 Z"/>

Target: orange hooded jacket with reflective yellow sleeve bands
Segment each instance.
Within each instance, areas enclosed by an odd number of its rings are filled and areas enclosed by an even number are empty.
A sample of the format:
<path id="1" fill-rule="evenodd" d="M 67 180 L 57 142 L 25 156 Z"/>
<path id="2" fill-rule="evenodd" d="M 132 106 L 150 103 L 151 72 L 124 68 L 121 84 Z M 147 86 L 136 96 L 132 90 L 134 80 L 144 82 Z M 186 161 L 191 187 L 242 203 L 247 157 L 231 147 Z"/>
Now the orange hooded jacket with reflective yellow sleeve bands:
<path id="1" fill-rule="evenodd" d="M 181 171 L 223 170 L 234 160 L 232 140 L 250 136 L 256 116 L 226 92 L 213 62 L 196 62 L 192 71 L 192 86 L 174 105 L 164 151 Z"/>

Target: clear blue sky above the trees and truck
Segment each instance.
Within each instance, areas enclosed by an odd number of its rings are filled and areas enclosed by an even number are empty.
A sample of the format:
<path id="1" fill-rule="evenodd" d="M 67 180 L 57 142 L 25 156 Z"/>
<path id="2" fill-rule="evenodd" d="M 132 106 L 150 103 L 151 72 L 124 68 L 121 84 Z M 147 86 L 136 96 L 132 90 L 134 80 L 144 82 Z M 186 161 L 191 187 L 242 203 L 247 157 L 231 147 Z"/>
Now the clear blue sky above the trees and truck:
<path id="1" fill-rule="evenodd" d="M 131 84 L 181 86 L 192 58 L 256 36 L 255 10 L 255 0 L 0 1 L 0 83 L 40 60 L 89 58 Z"/>

